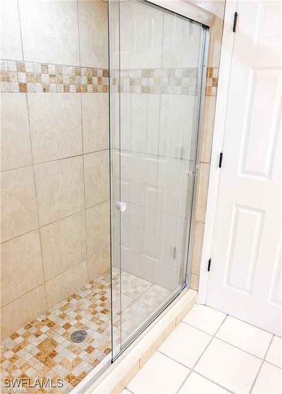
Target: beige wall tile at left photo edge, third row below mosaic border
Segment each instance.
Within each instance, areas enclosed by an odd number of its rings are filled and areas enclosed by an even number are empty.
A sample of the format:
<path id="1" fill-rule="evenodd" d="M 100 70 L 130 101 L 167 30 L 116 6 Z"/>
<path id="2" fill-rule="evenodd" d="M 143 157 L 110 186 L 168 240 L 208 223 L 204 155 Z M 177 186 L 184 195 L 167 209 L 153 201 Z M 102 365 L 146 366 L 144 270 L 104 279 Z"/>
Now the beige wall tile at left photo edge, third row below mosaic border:
<path id="1" fill-rule="evenodd" d="M 1 245 L 1 306 L 44 283 L 39 231 Z"/>

